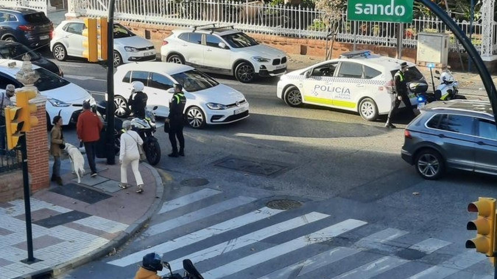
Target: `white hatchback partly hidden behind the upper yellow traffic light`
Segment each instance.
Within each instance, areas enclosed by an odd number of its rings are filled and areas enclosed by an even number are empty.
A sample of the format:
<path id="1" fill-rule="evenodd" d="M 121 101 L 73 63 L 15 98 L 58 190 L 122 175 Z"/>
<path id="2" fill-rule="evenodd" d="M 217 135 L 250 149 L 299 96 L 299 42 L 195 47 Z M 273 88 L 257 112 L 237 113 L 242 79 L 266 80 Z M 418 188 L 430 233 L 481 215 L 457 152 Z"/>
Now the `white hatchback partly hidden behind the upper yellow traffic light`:
<path id="1" fill-rule="evenodd" d="M 62 21 L 53 33 L 50 50 L 59 61 L 67 57 L 83 57 L 83 29 L 81 20 Z M 114 23 L 114 66 L 122 63 L 151 61 L 156 59 L 154 45 L 135 35 L 119 23 Z"/>

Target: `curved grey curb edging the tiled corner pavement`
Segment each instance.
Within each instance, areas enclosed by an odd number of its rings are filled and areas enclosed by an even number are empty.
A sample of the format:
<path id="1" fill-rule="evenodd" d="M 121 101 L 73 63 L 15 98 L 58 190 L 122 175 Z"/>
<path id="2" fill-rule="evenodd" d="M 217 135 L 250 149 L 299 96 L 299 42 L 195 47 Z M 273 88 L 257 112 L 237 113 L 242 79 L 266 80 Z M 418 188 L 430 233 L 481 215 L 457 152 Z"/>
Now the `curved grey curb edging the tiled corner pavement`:
<path id="1" fill-rule="evenodd" d="M 100 248 L 90 252 L 87 255 L 78 257 L 74 260 L 57 265 L 57 266 L 52 267 L 52 268 L 46 268 L 46 269 L 43 269 L 40 271 L 30 273 L 28 275 L 24 275 L 22 277 L 16 277 L 14 279 L 45 279 L 45 278 L 48 279 L 48 278 L 52 278 L 52 276 L 61 275 L 61 274 L 65 273 L 67 271 L 70 271 L 76 267 L 82 266 L 88 262 L 97 260 L 97 259 L 107 255 L 114 248 L 120 247 L 121 245 L 126 243 L 126 241 L 128 241 L 131 237 L 133 237 L 133 235 L 138 230 L 142 229 L 143 226 L 149 222 L 152 215 L 154 215 L 156 210 L 159 208 L 159 206 L 161 205 L 162 200 L 164 198 L 163 197 L 164 196 L 164 187 L 162 187 L 163 182 L 162 182 L 161 176 L 159 175 L 159 172 L 154 167 L 150 166 L 147 163 L 142 163 L 142 164 L 145 167 L 147 167 L 148 169 L 150 169 L 150 171 L 152 172 L 152 175 L 154 175 L 154 177 L 156 179 L 157 186 L 156 186 L 156 199 L 154 200 L 152 205 L 149 207 L 148 211 L 140 219 L 135 221 L 135 223 L 130 224 L 125 231 L 121 232 L 116 238 L 109 241 L 103 247 L 100 247 Z"/>

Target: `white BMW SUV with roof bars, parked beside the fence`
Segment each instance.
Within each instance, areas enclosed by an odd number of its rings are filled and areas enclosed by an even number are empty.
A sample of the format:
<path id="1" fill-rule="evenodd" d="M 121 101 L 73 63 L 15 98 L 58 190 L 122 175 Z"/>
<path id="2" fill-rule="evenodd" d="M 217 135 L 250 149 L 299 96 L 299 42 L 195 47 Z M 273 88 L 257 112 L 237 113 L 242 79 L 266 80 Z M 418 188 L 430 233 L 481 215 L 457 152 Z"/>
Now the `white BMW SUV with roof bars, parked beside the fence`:
<path id="1" fill-rule="evenodd" d="M 248 83 L 256 76 L 286 72 L 286 54 L 257 43 L 230 27 L 194 27 L 173 30 L 161 47 L 163 62 L 191 65 L 206 72 L 234 75 Z"/>

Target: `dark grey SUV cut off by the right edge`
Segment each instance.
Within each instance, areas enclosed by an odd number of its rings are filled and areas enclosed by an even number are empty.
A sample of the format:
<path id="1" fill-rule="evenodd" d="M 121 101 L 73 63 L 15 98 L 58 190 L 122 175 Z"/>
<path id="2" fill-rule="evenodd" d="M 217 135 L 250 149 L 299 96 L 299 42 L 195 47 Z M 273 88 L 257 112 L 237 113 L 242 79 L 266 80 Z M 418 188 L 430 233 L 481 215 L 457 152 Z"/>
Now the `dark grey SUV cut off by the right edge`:
<path id="1" fill-rule="evenodd" d="M 497 129 L 489 102 L 433 102 L 406 127 L 402 159 L 425 179 L 446 168 L 497 175 Z"/>

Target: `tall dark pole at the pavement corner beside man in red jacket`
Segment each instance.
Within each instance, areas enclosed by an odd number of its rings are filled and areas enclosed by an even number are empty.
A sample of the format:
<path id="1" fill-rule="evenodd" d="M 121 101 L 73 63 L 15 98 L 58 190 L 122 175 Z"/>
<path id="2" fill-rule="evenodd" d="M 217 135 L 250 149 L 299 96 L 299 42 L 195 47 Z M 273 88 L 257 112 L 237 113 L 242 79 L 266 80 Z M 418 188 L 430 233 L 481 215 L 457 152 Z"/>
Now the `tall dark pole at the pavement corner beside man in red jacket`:
<path id="1" fill-rule="evenodd" d="M 107 22 L 107 112 L 105 120 L 107 165 L 114 165 L 116 161 L 114 149 L 114 2 L 109 1 L 109 15 Z"/>

